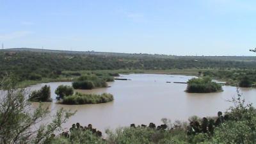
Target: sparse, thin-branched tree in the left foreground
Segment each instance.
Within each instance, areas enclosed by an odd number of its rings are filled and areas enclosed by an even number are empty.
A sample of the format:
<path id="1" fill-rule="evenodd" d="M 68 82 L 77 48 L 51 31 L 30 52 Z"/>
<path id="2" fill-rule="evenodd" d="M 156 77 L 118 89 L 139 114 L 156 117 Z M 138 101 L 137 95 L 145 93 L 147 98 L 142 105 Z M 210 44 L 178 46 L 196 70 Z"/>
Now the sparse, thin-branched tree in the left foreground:
<path id="1" fill-rule="evenodd" d="M 18 89 L 15 79 L 4 78 L 0 81 L 0 88 L 4 90 L 0 97 L 0 143 L 47 143 L 51 141 L 54 132 L 61 129 L 61 124 L 74 115 L 70 111 L 58 110 L 52 115 L 52 122 L 43 125 L 49 108 L 31 108 L 25 97 L 26 90 Z M 42 125 L 40 125 L 42 124 Z M 39 126 L 35 129 L 35 126 Z"/>

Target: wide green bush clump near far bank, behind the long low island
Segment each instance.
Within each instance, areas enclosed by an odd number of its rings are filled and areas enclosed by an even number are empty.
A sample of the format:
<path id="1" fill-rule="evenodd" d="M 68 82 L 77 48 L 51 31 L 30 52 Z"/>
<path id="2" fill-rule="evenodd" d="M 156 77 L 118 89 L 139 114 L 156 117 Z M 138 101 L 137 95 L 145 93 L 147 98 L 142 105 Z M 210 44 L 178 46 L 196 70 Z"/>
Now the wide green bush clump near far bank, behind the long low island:
<path id="1" fill-rule="evenodd" d="M 72 86 L 74 89 L 92 90 L 93 88 L 107 87 L 108 84 L 106 81 L 108 80 L 109 79 L 104 77 L 86 75 L 76 79 L 76 81 L 72 83 Z"/>

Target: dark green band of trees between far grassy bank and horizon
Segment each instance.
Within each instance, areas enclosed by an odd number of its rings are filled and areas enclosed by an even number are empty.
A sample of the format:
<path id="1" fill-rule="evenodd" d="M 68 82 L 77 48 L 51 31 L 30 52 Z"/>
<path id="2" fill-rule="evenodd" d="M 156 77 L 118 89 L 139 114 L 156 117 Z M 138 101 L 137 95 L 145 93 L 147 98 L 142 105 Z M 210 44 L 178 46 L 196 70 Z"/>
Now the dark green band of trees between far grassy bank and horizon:
<path id="1" fill-rule="evenodd" d="M 218 60 L 207 57 L 158 58 L 92 54 L 0 51 L 0 77 L 12 73 L 19 81 L 57 78 L 65 70 L 164 70 L 182 68 L 255 69 L 255 61 Z"/>

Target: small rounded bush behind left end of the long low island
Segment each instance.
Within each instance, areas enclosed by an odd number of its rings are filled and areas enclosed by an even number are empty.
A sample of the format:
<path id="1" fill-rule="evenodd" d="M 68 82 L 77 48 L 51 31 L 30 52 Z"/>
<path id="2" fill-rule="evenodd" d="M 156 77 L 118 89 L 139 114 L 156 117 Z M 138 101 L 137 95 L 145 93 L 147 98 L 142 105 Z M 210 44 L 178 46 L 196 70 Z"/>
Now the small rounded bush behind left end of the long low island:
<path id="1" fill-rule="evenodd" d="M 72 86 L 60 85 L 55 90 L 55 93 L 56 93 L 56 95 L 58 95 L 57 99 L 63 99 L 63 97 L 65 97 L 65 96 L 73 95 L 74 88 L 72 88 Z"/>

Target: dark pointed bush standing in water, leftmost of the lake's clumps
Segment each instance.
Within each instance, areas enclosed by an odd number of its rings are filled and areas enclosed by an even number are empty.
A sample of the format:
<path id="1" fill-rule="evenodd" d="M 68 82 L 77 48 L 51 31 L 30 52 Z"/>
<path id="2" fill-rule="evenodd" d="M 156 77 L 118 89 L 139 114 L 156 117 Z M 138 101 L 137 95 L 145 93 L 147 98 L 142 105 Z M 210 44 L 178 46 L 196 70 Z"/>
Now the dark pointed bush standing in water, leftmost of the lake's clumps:
<path id="1" fill-rule="evenodd" d="M 29 95 L 31 102 L 51 102 L 51 88 L 50 86 L 43 86 L 40 90 L 35 90 Z"/>

